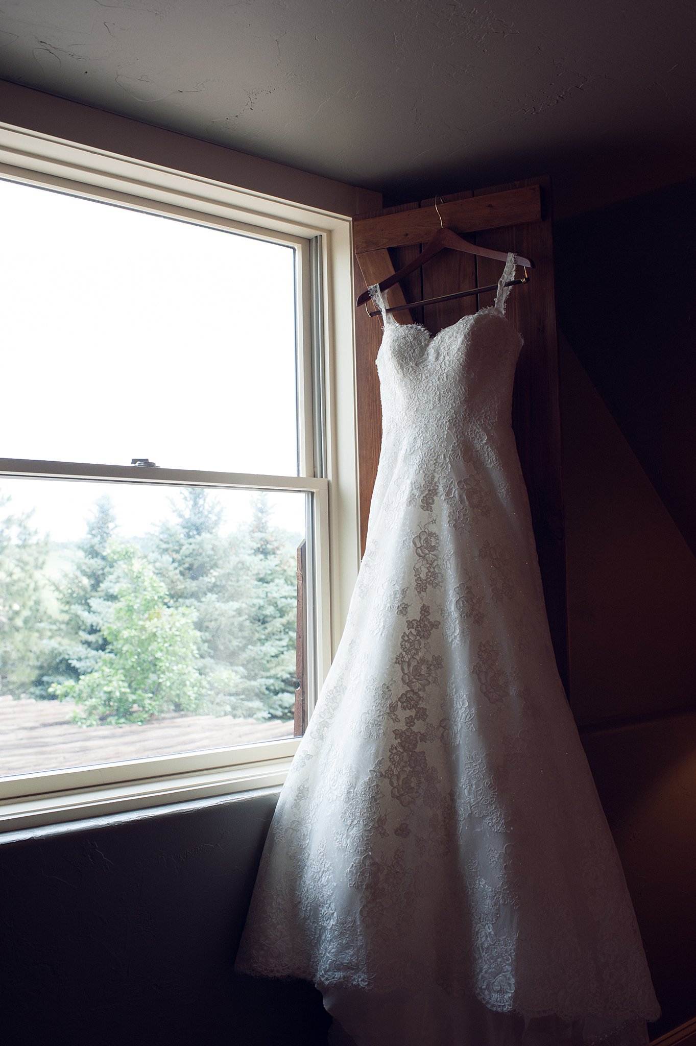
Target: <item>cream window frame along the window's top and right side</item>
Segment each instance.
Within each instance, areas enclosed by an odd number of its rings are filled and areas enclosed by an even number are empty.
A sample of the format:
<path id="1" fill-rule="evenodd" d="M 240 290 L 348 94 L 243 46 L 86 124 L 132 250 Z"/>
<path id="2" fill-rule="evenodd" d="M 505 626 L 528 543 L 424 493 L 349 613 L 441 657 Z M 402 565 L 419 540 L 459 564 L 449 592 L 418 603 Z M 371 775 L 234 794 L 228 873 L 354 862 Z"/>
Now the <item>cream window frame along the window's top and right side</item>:
<path id="1" fill-rule="evenodd" d="M 186 156 L 182 155 L 185 167 Z M 82 145 L 0 122 L 0 177 L 112 200 L 157 213 L 198 212 L 242 233 L 288 235 L 309 241 L 310 266 L 321 299 L 315 345 L 321 345 L 325 408 L 325 470 L 329 480 L 331 647 L 348 612 L 361 559 L 356 469 L 355 361 L 352 223 L 307 204 Z M 228 227 L 228 226 L 225 226 Z M 322 455 L 315 450 L 315 458 Z"/>

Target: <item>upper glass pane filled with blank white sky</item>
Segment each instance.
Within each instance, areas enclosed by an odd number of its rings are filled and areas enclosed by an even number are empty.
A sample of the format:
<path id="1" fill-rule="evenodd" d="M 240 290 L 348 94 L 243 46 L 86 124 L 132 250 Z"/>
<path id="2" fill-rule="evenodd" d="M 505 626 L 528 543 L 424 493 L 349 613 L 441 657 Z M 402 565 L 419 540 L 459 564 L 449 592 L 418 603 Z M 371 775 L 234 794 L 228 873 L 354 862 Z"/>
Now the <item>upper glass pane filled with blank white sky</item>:
<path id="1" fill-rule="evenodd" d="M 0 180 L 0 456 L 297 475 L 295 249 Z"/>

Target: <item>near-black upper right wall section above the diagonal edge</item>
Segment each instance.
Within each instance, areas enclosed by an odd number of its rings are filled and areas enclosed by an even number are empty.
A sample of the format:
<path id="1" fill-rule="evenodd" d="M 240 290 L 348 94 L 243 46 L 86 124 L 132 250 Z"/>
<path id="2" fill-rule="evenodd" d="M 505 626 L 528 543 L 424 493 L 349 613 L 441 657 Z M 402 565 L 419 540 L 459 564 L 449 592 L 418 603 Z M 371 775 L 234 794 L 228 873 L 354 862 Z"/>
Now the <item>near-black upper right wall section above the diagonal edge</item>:
<path id="1" fill-rule="evenodd" d="M 557 225 L 558 322 L 696 552 L 696 180 Z"/>

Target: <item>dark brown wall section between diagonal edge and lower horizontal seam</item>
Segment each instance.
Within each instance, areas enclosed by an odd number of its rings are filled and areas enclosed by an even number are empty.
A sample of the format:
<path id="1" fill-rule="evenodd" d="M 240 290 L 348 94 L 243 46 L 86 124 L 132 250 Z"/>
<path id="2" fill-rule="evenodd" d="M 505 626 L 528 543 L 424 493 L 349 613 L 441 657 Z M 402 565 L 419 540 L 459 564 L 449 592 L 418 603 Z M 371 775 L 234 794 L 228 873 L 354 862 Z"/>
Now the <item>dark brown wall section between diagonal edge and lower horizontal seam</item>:
<path id="1" fill-rule="evenodd" d="M 580 726 L 696 707 L 696 558 L 560 340 L 571 704 Z"/>

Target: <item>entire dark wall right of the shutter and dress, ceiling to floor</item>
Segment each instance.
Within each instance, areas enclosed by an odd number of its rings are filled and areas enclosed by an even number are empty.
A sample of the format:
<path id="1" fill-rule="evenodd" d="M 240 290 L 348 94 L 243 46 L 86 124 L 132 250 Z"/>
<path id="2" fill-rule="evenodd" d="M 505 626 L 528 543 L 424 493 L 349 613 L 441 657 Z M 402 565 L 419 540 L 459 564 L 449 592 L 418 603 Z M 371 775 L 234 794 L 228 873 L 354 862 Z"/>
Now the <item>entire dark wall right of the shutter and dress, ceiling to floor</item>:
<path id="1" fill-rule="evenodd" d="M 695 204 L 683 183 L 555 235 L 570 700 L 663 1006 L 653 1036 L 696 1016 Z"/>

